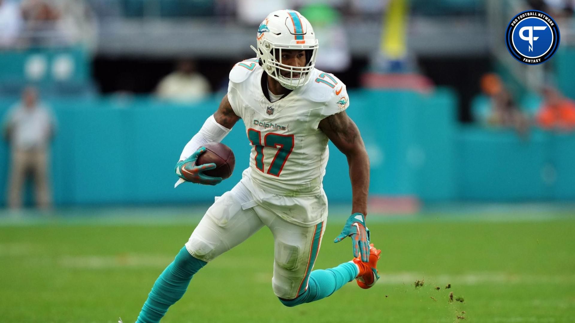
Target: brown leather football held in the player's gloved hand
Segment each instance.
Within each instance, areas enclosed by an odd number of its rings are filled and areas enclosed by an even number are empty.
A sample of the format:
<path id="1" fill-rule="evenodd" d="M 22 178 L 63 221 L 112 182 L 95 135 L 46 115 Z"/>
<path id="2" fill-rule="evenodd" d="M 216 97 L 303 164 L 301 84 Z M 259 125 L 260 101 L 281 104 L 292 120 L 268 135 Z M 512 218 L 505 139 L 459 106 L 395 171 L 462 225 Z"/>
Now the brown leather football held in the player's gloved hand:
<path id="1" fill-rule="evenodd" d="M 213 170 L 205 171 L 204 174 L 223 179 L 232 175 L 233 167 L 236 165 L 236 157 L 233 156 L 232 149 L 222 143 L 205 144 L 206 151 L 198 157 L 196 165 L 216 164 Z"/>

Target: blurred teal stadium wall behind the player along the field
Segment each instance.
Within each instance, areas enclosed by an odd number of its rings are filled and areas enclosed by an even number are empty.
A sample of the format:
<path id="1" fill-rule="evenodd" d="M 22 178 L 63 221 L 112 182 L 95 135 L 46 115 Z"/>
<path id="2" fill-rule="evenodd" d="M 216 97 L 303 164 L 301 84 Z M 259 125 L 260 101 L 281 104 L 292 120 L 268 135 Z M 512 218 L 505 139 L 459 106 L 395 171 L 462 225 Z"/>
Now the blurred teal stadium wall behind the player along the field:
<path id="1" fill-rule="evenodd" d="M 348 114 L 361 129 L 371 159 L 370 194 L 416 196 L 425 202 L 524 201 L 575 198 L 575 135 L 534 130 L 461 127 L 447 90 L 350 92 Z M 1 98 L 4 115 L 16 98 Z M 190 106 L 147 97 L 50 99 L 59 129 L 52 145 L 57 205 L 210 202 L 231 189 L 248 166 L 243 124 L 224 139 L 236 170 L 218 186 L 174 189 L 179 153 L 218 98 Z M 324 188 L 331 201 L 350 202 L 345 157 L 330 144 Z M 0 144 L 0 199 L 5 201 L 9 153 Z"/>

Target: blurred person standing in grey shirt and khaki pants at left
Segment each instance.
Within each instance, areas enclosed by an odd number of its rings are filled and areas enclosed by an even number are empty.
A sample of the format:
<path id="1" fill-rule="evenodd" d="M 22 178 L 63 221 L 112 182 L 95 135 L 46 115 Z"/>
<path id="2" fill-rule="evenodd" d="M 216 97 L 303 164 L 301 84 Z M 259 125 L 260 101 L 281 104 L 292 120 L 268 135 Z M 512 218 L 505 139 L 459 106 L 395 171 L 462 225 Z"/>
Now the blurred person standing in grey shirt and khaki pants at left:
<path id="1" fill-rule="evenodd" d="M 7 195 L 7 205 L 11 209 L 18 209 L 22 205 L 22 186 L 28 173 L 34 175 L 37 205 L 42 209 L 51 206 L 48 145 L 54 129 L 55 119 L 47 107 L 38 101 L 36 89 L 26 88 L 22 101 L 8 111 L 3 122 L 3 132 L 11 151 Z"/>

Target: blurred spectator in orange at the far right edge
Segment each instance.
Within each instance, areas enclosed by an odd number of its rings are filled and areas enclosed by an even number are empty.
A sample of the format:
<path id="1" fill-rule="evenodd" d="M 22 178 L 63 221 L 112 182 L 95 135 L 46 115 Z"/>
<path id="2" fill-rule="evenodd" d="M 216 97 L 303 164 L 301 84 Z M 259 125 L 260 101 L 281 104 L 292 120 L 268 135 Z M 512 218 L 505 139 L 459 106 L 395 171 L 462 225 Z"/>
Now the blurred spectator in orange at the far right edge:
<path id="1" fill-rule="evenodd" d="M 553 87 L 543 89 L 543 104 L 540 107 L 536 121 L 545 129 L 575 129 L 575 102 L 565 98 Z"/>

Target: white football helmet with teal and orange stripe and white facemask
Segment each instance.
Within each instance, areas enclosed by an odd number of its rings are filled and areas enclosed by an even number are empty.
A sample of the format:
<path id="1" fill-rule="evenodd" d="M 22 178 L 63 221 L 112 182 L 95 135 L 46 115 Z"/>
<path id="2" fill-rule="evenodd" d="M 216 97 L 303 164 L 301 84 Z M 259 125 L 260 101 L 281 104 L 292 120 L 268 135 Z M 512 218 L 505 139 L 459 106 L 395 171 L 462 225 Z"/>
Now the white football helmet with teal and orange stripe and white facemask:
<path id="1" fill-rule="evenodd" d="M 258 49 L 251 46 L 262 63 L 267 75 L 286 89 L 294 90 L 309 80 L 310 71 L 316 64 L 318 41 L 309 21 L 295 10 L 277 10 L 270 13 L 259 25 Z M 282 64 L 282 49 L 305 49 L 306 64 L 293 67 Z M 276 59 L 279 57 L 279 61 Z M 290 72 L 289 78 L 280 71 Z M 294 77 L 294 73 L 298 76 Z"/>

